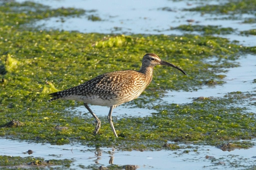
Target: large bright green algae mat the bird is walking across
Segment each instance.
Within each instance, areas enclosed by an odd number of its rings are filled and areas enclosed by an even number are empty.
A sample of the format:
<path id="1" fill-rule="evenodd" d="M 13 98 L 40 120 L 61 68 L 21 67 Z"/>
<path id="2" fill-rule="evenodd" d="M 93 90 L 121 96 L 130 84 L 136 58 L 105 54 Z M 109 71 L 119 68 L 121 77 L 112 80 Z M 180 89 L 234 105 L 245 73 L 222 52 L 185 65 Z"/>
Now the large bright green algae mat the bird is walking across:
<path id="1" fill-rule="evenodd" d="M 15 11 L 22 5 L 26 8 Z M 27 8 L 35 6 L 35 11 Z M 12 119 L 24 123 L 22 127 L 0 128 L 0 136 L 58 145 L 79 142 L 96 147 L 114 146 L 121 150 L 175 150 L 178 147 L 164 147 L 167 141 L 216 146 L 223 141 L 255 138 L 254 113 L 238 105 L 229 105 L 250 100 L 254 92 L 234 92 L 222 98 L 205 97 L 182 105 L 159 102 L 152 105 L 160 101 L 165 90 L 193 91 L 225 83 L 222 80 L 225 75 L 220 73 L 239 66 L 236 59 L 248 52 L 255 54 L 255 47 L 243 47 L 238 42 L 210 35 L 127 36 L 19 28 L 17 25 L 28 20 L 66 13 L 60 8 L 56 9 L 58 13 L 50 15 L 43 12 L 47 12 L 45 9 L 38 10 L 38 6 L 52 11 L 36 3 L 11 2 L 0 6 L 3 16 L 0 17 L 0 78 L 4 80 L 0 84 L 0 125 Z M 77 15 L 72 11 L 69 15 Z M 91 116 L 65 110 L 82 103 L 47 102 L 47 93 L 76 86 L 101 73 L 139 69 L 142 56 L 147 52 L 154 52 L 163 60 L 178 65 L 188 75 L 172 68 L 156 67 L 150 86 L 128 105 L 153 108 L 157 113 L 143 118 L 114 116 L 119 138 L 113 136 L 106 116 L 99 116 L 102 126 L 94 136 Z M 207 59 L 215 61 L 206 62 Z M 57 130 L 57 125 L 67 129 Z M 250 144 L 241 146 L 251 147 Z"/>

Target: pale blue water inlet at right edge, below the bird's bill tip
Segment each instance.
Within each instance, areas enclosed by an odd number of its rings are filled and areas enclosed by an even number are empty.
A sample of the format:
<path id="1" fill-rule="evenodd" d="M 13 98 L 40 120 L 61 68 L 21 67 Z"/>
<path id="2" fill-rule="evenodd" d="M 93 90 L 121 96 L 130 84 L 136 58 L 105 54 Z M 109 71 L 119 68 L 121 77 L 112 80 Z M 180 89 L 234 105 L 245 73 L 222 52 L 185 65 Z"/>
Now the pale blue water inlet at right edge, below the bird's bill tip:
<path id="1" fill-rule="evenodd" d="M 246 55 L 236 60 L 240 63 L 239 67 L 228 69 L 228 72 L 223 73 L 227 77 L 223 79 L 226 81 L 223 85 L 207 86 L 197 91 L 168 91 L 166 97 L 162 98 L 169 103 L 189 103 L 197 97 L 222 97 L 229 92 L 241 91 L 250 92 L 256 90 L 256 86 L 252 83 L 256 77 L 256 57 L 253 55 Z M 220 73 L 222 74 L 222 73 Z M 254 112 L 256 112 L 255 107 Z"/>

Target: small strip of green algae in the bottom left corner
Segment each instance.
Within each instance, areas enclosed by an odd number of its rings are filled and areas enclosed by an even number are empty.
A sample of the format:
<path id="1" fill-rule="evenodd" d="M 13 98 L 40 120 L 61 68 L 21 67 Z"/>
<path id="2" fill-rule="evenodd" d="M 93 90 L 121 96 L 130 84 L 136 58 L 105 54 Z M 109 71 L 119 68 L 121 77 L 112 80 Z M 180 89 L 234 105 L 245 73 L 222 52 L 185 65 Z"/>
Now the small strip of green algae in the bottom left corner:
<path id="1" fill-rule="evenodd" d="M 72 160 L 44 160 L 40 157 L 20 157 L 0 155 L 1 169 L 45 169 L 55 166 L 55 169 L 66 169 L 72 163 Z"/>

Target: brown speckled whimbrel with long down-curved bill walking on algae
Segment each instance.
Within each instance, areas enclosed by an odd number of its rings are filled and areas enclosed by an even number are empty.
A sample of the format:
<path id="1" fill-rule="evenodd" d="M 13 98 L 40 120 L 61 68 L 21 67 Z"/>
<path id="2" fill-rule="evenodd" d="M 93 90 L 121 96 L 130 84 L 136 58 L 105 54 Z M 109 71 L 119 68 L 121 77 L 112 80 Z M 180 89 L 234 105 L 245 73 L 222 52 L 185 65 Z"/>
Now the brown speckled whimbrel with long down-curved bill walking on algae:
<path id="1" fill-rule="evenodd" d="M 153 53 L 148 53 L 142 58 L 142 66 L 138 71 L 121 70 L 104 73 L 78 86 L 51 93 L 49 95 L 53 98 L 48 101 L 64 99 L 83 102 L 95 119 L 95 135 L 100 129 L 101 121 L 89 108 L 88 103 L 110 107 L 108 121 L 114 135 L 118 137 L 112 122 L 112 110 L 122 103 L 136 99 L 145 90 L 152 80 L 153 68 L 156 65 L 174 67 L 186 75 L 181 68 L 161 60 Z"/>

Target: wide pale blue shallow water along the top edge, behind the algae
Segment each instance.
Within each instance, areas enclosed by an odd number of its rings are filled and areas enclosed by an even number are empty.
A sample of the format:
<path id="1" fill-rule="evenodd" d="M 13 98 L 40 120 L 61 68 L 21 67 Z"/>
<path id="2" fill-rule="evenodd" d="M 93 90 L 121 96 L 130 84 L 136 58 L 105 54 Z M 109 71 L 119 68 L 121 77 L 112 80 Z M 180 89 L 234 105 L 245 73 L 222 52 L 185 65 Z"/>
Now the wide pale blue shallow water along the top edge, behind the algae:
<path id="1" fill-rule="evenodd" d="M 18 0 L 24 2 L 24 0 Z M 61 17 L 52 17 L 40 20 L 35 26 L 42 28 L 53 28 L 63 30 L 78 30 L 80 32 L 116 33 L 116 34 L 183 34 L 177 30 L 170 30 L 170 27 L 177 27 L 181 24 L 188 24 L 188 19 L 193 19 L 199 25 L 222 25 L 231 27 L 239 31 L 255 28 L 255 24 L 241 24 L 241 20 L 213 20 L 212 15 L 201 15 L 200 12 L 183 11 L 184 8 L 194 8 L 203 4 L 218 4 L 217 1 L 39 1 L 44 5 L 54 8 L 75 7 L 85 10 L 96 9 L 96 12 L 87 15 L 99 16 L 102 21 L 88 20 L 88 16 L 65 18 L 65 22 L 60 22 Z M 168 7 L 171 11 L 162 10 Z M 225 17 L 225 15 L 220 15 Z M 254 17 L 243 14 L 242 18 Z M 57 22 L 56 22 L 57 21 Z M 239 39 L 237 39 L 239 40 Z"/>

